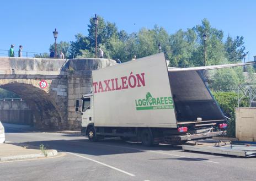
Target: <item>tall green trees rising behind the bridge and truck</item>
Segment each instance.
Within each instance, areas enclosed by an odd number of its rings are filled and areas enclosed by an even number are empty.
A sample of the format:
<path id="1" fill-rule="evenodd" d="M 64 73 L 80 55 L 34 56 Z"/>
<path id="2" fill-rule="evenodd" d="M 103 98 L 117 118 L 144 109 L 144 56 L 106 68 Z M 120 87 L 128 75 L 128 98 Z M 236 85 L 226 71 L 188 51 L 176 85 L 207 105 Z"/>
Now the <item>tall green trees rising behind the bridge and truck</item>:
<path id="1" fill-rule="evenodd" d="M 234 39 L 230 36 L 223 40 L 223 31 L 211 26 L 207 19 L 201 24 L 186 30 L 178 30 L 174 34 L 157 25 L 153 29 L 141 28 L 138 32 L 127 34 L 118 30 L 115 23 L 105 21 L 98 16 L 97 42 L 104 51 L 104 58 L 120 59 L 122 62 L 158 53 L 158 43 L 161 43 L 162 52 L 170 61 L 171 67 L 196 67 L 204 65 L 204 52 L 206 52 L 206 65 L 216 65 L 241 61 L 245 52 L 243 36 Z M 61 49 L 68 58 L 92 58 L 95 56 L 95 24 L 90 18 L 88 36 L 77 34 L 76 40 L 60 42 L 57 51 Z M 203 35 L 207 40 L 204 41 Z M 54 44 L 50 50 L 54 50 Z M 206 51 L 204 51 L 206 50 Z M 97 52 L 99 53 L 99 52 Z M 209 85 L 214 91 L 237 89 L 243 83 L 242 69 L 226 69 L 211 72 Z M 253 74 L 249 75 L 253 82 Z"/>

